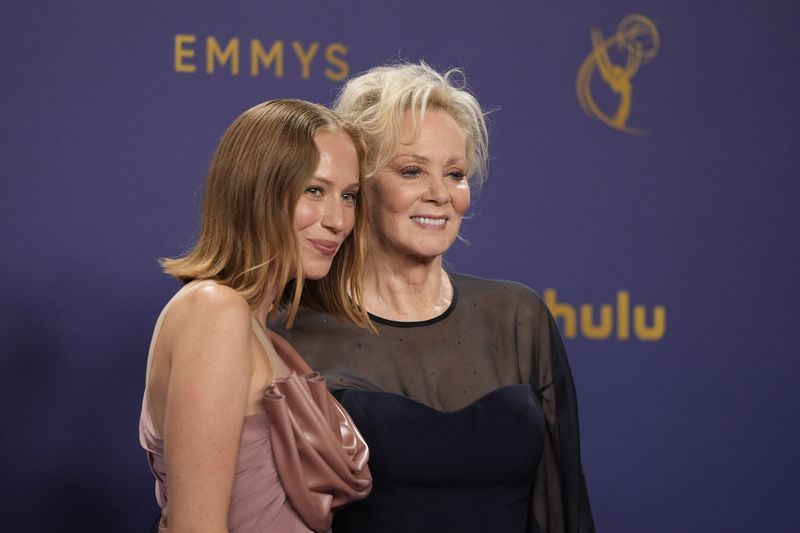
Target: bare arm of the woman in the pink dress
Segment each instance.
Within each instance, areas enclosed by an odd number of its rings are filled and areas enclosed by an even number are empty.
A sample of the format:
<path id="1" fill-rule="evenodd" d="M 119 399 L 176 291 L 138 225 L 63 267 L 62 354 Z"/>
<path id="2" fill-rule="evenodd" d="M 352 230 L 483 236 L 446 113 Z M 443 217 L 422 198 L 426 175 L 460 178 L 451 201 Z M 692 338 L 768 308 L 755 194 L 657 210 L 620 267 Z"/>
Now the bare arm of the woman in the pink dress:
<path id="1" fill-rule="evenodd" d="M 253 372 L 250 309 L 218 285 L 176 304 L 164 417 L 170 530 L 226 531 Z"/>

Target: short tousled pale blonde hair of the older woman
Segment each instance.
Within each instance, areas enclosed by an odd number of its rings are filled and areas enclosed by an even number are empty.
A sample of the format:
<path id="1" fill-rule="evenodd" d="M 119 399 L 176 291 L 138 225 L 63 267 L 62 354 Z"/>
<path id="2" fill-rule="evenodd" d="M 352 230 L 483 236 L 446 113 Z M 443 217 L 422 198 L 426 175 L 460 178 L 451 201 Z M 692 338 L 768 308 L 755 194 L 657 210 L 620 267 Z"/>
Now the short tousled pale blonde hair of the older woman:
<path id="1" fill-rule="evenodd" d="M 468 174 L 478 188 L 486 178 L 489 135 L 485 113 L 466 89 L 459 69 L 439 73 L 425 62 L 372 68 L 350 79 L 334 102 L 334 109 L 364 132 L 367 141 L 367 177 L 391 160 L 401 139 L 403 118 L 412 112 L 416 137 L 428 109 L 448 113 L 464 132 Z"/>

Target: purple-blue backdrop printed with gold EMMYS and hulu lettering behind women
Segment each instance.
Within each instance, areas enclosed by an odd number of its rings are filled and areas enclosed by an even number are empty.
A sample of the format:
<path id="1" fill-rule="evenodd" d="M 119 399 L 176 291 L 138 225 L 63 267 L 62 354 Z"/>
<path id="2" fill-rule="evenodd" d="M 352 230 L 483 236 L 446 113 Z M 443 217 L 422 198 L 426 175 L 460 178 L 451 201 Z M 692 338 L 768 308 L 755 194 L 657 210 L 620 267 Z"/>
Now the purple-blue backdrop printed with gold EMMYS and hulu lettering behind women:
<path id="1" fill-rule="evenodd" d="M 463 68 L 489 180 L 450 267 L 536 289 L 601 531 L 800 520 L 798 4 L 6 1 L 3 531 L 142 531 L 150 333 L 217 140 L 270 98 Z"/>

